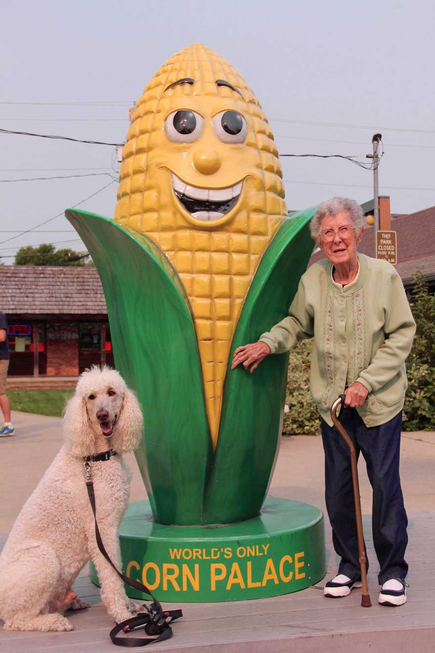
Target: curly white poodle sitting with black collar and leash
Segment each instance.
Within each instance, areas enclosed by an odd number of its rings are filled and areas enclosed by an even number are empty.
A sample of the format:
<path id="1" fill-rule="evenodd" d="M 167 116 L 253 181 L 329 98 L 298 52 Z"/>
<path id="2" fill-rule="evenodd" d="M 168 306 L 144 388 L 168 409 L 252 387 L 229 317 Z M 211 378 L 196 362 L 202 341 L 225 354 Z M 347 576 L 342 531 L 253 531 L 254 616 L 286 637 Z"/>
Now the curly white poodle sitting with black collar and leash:
<path id="1" fill-rule="evenodd" d="M 0 556 L 0 618 L 6 629 L 73 630 L 61 613 L 89 607 L 71 590 L 89 558 L 115 621 L 140 609 L 98 550 L 83 463 L 86 456 L 116 452 L 90 465 L 102 541 L 121 570 L 119 524 L 131 479 L 123 453 L 138 447 L 142 425 L 138 400 L 118 372 L 97 367 L 83 372 L 65 409 L 65 444 L 24 504 Z"/>

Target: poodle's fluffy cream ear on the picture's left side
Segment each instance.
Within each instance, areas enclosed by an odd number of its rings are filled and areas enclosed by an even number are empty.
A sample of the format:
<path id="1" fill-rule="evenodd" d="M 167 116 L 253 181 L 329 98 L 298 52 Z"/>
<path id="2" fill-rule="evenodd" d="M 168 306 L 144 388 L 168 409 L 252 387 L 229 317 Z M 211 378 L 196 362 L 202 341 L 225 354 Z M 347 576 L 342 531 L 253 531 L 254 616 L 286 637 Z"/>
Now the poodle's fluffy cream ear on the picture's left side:
<path id="1" fill-rule="evenodd" d="M 89 424 L 85 400 L 74 394 L 65 407 L 63 435 L 74 456 L 89 456 L 93 453 L 94 434 Z"/>

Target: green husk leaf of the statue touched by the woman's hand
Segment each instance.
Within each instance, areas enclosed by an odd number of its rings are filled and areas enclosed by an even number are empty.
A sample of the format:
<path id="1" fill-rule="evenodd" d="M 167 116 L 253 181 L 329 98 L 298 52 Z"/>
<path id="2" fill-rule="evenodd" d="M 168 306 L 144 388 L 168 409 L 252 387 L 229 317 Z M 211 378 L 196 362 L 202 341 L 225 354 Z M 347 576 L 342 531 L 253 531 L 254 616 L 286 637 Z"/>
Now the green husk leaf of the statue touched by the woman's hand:
<path id="1" fill-rule="evenodd" d="M 288 354 L 269 356 L 253 374 L 231 370 L 235 349 L 256 342 L 287 315 L 313 241 L 316 207 L 293 214 L 278 229 L 252 280 L 235 329 L 224 382 L 219 436 L 205 501 L 206 524 L 255 517 L 267 494 L 278 454 Z"/>

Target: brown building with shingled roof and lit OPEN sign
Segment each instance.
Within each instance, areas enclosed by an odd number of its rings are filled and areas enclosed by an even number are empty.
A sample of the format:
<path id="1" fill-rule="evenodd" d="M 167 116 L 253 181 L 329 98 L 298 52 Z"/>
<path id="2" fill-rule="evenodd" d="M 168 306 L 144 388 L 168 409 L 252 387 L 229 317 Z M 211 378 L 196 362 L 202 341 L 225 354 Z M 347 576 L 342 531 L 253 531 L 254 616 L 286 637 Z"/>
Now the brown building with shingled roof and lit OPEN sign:
<path id="1" fill-rule="evenodd" d="M 0 287 L 9 375 L 76 376 L 93 364 L 114 366 L 97 268 L 5 265 Z"/>

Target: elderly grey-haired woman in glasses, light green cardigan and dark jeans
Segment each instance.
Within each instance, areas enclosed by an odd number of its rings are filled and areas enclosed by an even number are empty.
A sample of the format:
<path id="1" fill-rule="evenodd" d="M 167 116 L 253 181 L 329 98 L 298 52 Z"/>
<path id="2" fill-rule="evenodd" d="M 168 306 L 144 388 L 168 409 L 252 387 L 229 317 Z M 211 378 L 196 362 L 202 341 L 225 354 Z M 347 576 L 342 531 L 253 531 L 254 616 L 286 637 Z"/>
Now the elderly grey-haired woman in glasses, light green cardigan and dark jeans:
<path id="1" fill-rule="evenodd" d="M 373 488 L 379 602 L 397 606 L 406 602 L 408 573 L 399 454 L 408 385 L 404 361 L 415 322 L 395 268 L 357 253 L 364 227 L 365 215 L 354 200 L 333 197 L 319 206 L 310 229 L 326 259 L 301 278 L 288 317 L 259 342 L 239 347 L 232 367 L 243 363 L 253 372 L 269 354 L 289 351 L 303 338 L 314 337 L 310 392 L 322 417 L 325 499 L 340 556 L 338 575 L 327 582 L 324 594 L 347 596 L 361 586 L 350 453 L 330 415 L 333 401 L 344 392 L 339 419 L 357 455 L 363 453 Z"/>

